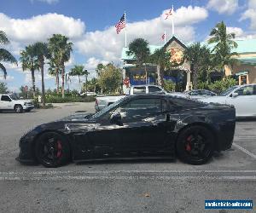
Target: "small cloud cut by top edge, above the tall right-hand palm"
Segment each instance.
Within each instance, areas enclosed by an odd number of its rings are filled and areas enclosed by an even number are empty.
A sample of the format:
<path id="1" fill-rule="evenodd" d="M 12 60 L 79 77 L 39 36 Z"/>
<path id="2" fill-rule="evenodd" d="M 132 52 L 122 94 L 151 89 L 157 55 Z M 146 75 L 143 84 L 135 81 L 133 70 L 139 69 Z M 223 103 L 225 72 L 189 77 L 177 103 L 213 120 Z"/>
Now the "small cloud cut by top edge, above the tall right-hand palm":
<path id="1" fill-rule="evenodd" d="M 218 14 L 234 14 L 238 9 L 238 0 L 210 0 L 207 9 L 212 9 Z"/>

